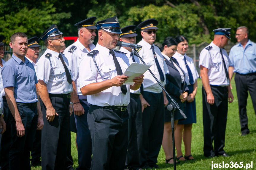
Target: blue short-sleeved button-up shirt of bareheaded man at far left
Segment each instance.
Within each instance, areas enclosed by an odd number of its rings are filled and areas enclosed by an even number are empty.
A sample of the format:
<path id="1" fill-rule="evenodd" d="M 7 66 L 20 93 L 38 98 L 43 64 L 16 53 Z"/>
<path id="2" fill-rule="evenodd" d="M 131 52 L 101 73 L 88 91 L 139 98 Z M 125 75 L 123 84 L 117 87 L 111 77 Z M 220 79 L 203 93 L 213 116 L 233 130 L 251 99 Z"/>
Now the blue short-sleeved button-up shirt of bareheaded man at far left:
<path id="1" fill-rule="evenodd" d="M 36 85 L 38 83 L 33 64 L 25 57 L 25 62 L 12 54 L 2 69 L 3 85 L 14 87 L 14 98 L 16 102 L 37 102 Z"/>

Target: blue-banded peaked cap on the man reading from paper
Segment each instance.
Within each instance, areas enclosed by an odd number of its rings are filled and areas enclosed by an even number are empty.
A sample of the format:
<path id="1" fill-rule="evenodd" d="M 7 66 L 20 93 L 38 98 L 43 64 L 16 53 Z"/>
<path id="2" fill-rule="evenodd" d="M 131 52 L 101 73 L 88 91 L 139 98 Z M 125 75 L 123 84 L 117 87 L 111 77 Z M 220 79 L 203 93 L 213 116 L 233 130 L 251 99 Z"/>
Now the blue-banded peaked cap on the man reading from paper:
<path id="1" fill-rule="evenodd" d="M 107 32 L 115 33 L 115 34 L 122 33 L 117 16 L 98 21 L 96 26 L 97 26 L 97 30 L 103 29 Z"/>

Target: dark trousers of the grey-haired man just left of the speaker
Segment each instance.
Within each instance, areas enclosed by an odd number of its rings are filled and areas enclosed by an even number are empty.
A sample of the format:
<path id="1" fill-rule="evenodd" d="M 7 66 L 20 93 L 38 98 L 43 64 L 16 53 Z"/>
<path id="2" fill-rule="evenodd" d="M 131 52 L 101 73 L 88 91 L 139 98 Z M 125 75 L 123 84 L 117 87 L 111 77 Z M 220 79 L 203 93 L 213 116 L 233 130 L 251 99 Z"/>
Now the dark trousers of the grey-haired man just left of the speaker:
<path id="1" fill-rule="evenodd" d="M 78 98 L 85 110 L 85 114 L 80 116 L 75 115 L 77 125 L 77 170 L 90 170 L 92 161 L 92 138 L 87 122 L 90 104 L 87 102 L 87 96 L 78 95 Z"/>

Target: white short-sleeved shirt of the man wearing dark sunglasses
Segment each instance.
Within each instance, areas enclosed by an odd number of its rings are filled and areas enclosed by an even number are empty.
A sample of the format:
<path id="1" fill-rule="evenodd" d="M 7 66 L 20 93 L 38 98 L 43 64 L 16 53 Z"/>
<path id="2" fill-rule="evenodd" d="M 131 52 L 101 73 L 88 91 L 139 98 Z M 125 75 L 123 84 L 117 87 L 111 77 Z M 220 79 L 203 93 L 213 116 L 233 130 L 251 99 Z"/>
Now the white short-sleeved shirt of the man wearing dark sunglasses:
<path id="1" fill-rule="evenodd" d="M 165 75 L 169 73 L 169 69 L 164 61 L 164 58 L 161 54 L 160 49 L 157 46 L 155 46 L 155 44 L 153 44 L 158 63 L 163 72 L 164 81 L 160 80 L 160 75 L 159 75 L 157 66 L 155 64 L 155 58 L 151 49 L 151 45 L 147 43 L 144 39 L 142 39 L 138 44 L 142 46 L 142 48 L 138 52 L 139 55 L 141 56 L 141 58 L 146 64 L 151 65 L 150 70 L 153 72 L 153 74 L 159 80 L 159 82 L 164 86 L 166 84 Z M 142 62 L 140 63 L 143 64 Z M 151 75 L 151 73 L 148 70 L 145 72 L 144 76 L 145 76 L 143 80 L 144 91 L 152 92 L 152 93 L 162 92 L 163 89 L 160 87 L 158 82 L 155 80 L 155 78 Z"/>

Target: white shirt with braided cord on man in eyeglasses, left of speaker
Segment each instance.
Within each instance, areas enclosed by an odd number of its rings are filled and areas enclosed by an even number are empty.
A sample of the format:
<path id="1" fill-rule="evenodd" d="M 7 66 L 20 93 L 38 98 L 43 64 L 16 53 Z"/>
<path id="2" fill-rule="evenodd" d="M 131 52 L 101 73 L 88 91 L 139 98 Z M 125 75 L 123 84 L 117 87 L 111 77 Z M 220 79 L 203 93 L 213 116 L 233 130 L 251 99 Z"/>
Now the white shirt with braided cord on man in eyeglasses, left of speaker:
<path id="1" fill-rule="evenodd" d="M 51 64 L 53 67 L 53 72 L 51 69 L 50 60 L 45 56 L 47 53 L 52 54 L 50 56 Z M 65 68 L 59 58 L 58 52 L 52 51 L 50 49 L 46 49 L 44 54 L 40 57 L 37 62 L 37 80 L 43 80 L 45 84 L 47 84 L 48 93 L 53 94 L 68 94 L 72 92 L 72 84 L 69 84 L 67 81 Z M 71 78 L 72 73 L 71 69 L 69 68 L 68 60 L 62 54 L 63 60 L 66 63 L 67 68 L 70 70 Z"/>

